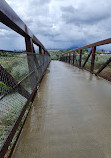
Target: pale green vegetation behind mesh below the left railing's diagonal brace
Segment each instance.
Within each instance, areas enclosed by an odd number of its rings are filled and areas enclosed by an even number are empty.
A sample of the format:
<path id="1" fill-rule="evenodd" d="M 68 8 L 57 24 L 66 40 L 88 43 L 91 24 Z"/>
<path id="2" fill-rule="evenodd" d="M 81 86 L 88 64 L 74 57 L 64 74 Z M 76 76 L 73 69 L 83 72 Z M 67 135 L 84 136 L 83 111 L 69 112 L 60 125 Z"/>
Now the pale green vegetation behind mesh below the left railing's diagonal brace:
<path id="1" fill-rule="evenodd" d="M 24 116 L 23 116 L 23 118 L 18 126 L 17 132 L 15 133 L 15 136 L 11 142 L 11 145 L 8 148 L 9 150 L 12 148 L 13 144 L 16 141 L 17 135 L 18 135 L 19 131 L 21 130 L 21 127 L 22 127 L 23 122 L 24 122 L 24 120 L 29 112 L 31 105 L 32 105 L 32 102 L 29 103 L 29 105 L 26 109 L 26 112 L 25 112 L 25 114 L 24 114 Z M 4 115 L 4 117 L 1 117 L 1 120 L 0 120 L 0 146 L 4 142 L 10 129 L 12 128 L 15 121 L 17 120 L 21 110 L 23 109 L 23 106 L 24 106 L 24 102 L 21 104 L 19 103 L 18 105 L 15 104 L 7 111 L 7 113 Z"/>

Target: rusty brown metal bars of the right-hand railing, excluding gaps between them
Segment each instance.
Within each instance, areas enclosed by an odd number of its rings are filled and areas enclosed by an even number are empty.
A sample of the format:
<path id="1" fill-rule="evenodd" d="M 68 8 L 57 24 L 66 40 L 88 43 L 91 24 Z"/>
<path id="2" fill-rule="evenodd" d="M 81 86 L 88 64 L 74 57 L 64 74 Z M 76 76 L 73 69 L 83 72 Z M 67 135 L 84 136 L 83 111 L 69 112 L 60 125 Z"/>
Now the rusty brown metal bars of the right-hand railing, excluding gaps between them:
<path id="1" fill-rule="evenodd" d="M 108 66 L 108 64 L 111 62 L 111 58 L 109 58 L 103 65 L 102 67 L 95 73 L 94 72 L 94 65 L 95 65 L 95 56 L 96 56 L 96 47 L 97 46 L 101 46 L 101 45 L 105 45 L 105 44 L 110 44 L 111 43 L 111 38 L 108 38 L 108 39 L 105 39 L 105 40 L 102 40 L 102 41 L 99 41 L 99 42 L 95 42 L 95 43 L 92 43 L 92 44 L 89 44 L 89 45 L 86 45 L 86 46 L 83 46 L 83 47 L 80 47 L 80 48 L 76 48 L 76 49 L 73 49 L 73 50 L 70 50 L 66 53 L 63 53 L 60 57 L 60 60 L 61 61 L 65 61 L 65 62 L 69 62 L 70 63 L 70 57 L 72 56 L 72 54 L 77 54 L 79 55 L 79 66 L 78 66 L 78 63 L 76 61 L 76 65 L 77 67 L 79 68 L 82 68 L 82 69 L 85 69 L 85 65 L 86 63 L 88 62 L 88 59 L 90 58 L 91 56 L 91 65 L 90 65 L 90 73 L 94 73 L 96 76 L 101 76 L 100 73 L 101 71 L 103 71 L 106 66 Z M 84 49 L 87 49 L 87 48 L 91 48 L 91 51 L 89 52 L 86 60 L 84 61 L 84 64 L 81 65 L 81 61 L 82 61 L 82 50 Z M 108 54 L 108 53 L 107 53 Z M 109 53 L 111 54 L 111 53 Z M 65 60 L 67 58 L 64 58 L 65 56 L 69 57 L 69 61 Z M 73 56 L 73 63 L 74 63 L 74 60 L 76 60 L 76 56 Z M 111 81 L 111 79 L 109 79 L 108 77 L 104 77 L 105 79 Z"/>

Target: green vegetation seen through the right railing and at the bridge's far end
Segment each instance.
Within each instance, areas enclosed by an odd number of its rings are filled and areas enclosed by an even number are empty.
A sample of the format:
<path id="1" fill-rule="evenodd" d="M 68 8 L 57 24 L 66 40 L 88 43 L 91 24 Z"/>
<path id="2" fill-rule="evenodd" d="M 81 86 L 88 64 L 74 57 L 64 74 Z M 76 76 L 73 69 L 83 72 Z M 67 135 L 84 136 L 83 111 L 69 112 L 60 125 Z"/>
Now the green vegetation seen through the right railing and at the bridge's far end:
<path id="1" fill-rule="evenodd" d="M 49 51 L 50 55 L 51 55 L 51 59 L 52 60 L 59 60 L 60 56 L 66 52 L 70 51 L 70 49 L 66 49 L 66 50 L 51 50 Z M 103 52 L 105 52 L 105 50 L 100 50 L 100 51 L 96 51 L 96 57 L 95 57 L 95 65 L 94 65 L 94 71 L 97 72 L 102 65 L 111 57 L 111 54 L 103 54 Z M 76 59 L 77 62 L 79 63 L 79 53 L 80 51 L 76 51 Z M 89 50 L 88 49 L 84 49 L 82 50 L 82 64 L 85 62 L 87 56 L 88 56 Z M 71 53 L 72 55 L 73 53 Z M 75 62 L 76 63 L 76 62 Z M 91 65 L 91 56 L 88 59 L 88 62 L 85 65 L 85 68 L 90 70 L 90 65 Z M 102 75 L 104 76 L 110 76 L 111 77 L 111 63 L 107 66 L 107 68 L 105 68 L 102 72 Z"/>

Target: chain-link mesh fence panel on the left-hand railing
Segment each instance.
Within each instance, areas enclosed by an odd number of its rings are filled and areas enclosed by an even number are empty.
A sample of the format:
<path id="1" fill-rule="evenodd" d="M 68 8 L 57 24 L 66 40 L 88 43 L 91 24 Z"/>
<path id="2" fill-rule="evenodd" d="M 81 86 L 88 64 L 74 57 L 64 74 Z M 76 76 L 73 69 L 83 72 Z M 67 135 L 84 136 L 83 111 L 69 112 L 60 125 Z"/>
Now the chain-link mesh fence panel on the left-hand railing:
<path id="1" fill-rule="evenodd" d="M 50 56 L 42 54 L 0 54 L 0 148 L 49 62 Z"/>

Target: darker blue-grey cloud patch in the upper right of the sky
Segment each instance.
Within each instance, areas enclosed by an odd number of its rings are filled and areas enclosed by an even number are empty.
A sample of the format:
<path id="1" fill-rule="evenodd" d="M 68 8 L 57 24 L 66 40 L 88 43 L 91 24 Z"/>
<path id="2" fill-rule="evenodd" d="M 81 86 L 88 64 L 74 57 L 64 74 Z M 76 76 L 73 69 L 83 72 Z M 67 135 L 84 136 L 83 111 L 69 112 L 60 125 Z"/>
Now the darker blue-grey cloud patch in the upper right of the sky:
<path id="1" fill-rule="evenodd" d="M 111 17 L 110 6 L 108 8 L 104 7 L 102 9 L 80 7 L 75 9 L 72 6 L 61 7 L 62 19 L 66 23 L 74 24 L 97 24 L 102 20 L 106 20 Z"/>

